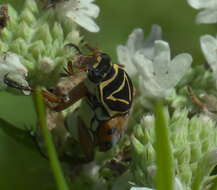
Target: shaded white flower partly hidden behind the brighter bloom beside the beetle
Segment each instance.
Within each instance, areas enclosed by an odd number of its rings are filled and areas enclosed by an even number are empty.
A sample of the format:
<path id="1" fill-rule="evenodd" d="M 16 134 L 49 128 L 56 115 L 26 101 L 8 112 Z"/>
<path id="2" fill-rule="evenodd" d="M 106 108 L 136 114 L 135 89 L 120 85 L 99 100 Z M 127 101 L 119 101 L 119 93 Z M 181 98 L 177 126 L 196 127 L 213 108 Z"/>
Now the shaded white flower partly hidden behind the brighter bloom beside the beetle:
<path id="1" fill-rule="evenodd" d="M 126 70 L 131 76 L 137 73 L 134 60 L 135 53 L 141 51 L 148 58 L 152 58 L 154 54 L 154 41 L 161 39 L 161 33 L 161 27 L 153 25 L 150 35 L 144 39 L 143 30 L 137 28 L 129 35 L 125 46 L 119 45 L 117 47 L 118 60 L 126 66 Z"/>

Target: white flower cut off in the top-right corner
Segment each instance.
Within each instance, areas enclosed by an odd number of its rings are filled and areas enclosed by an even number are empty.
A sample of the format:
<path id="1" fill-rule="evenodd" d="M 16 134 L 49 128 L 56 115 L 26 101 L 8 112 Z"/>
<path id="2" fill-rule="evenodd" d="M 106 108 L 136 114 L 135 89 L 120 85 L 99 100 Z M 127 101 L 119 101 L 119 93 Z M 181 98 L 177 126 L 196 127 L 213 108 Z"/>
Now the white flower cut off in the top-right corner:
<path id="1" fill-rule="evenodd" d="M 198 23 L 217 22 L 217 1 L 216 0 L 188 0 L 188 3 L 195 9 L 203 9 L 197 15 Z"/>

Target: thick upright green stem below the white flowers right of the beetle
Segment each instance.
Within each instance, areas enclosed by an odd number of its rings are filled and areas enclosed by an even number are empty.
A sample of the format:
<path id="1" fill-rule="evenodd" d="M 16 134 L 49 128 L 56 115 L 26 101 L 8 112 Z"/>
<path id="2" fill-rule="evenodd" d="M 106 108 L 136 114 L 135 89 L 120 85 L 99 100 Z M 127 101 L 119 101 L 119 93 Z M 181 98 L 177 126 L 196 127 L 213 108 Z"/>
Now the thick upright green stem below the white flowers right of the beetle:
<path id="1" fill-rule="evenodd" d="M 161 102 L 155 106 L 155 134 L 157 155 L 157 189 L 173 190 L 173 156 L 164 108 Z"/>

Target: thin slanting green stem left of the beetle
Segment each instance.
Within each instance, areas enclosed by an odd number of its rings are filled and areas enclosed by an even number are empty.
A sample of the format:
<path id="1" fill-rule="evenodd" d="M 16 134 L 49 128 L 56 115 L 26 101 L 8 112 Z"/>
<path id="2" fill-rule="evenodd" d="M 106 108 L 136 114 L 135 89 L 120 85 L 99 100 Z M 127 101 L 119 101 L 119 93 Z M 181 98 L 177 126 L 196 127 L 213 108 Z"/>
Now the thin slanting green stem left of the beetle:
<path id="1" fill-rule="evenodd" d="M 50 160 L 51 169 L 56 180 L 57 187 L 59 190 L 68 190 L 67 183 L 65 181 L 59 160 L 57 158 L 52 136 L 47 127 L 45 106 L 40 89 L 36 89 L 34 99 L 36 111 L 38 114 L 39 126 L 41 127 L 42 135 L 44 137 L 45 147 L 47 149 L 48 158 Z"/>

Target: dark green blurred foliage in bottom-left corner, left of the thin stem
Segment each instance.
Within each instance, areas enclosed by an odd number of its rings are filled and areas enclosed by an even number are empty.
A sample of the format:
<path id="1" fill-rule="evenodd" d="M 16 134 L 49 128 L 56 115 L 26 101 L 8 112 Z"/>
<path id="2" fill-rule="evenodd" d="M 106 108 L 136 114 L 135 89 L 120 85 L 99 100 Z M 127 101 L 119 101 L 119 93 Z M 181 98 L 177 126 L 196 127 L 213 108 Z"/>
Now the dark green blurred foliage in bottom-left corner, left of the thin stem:
<path id="1" fill-rule="evenodd" d="M 54 190 L 48 160 L 28 132 L 0 120 L 0 189 Z"/>

